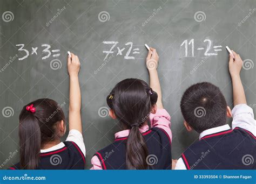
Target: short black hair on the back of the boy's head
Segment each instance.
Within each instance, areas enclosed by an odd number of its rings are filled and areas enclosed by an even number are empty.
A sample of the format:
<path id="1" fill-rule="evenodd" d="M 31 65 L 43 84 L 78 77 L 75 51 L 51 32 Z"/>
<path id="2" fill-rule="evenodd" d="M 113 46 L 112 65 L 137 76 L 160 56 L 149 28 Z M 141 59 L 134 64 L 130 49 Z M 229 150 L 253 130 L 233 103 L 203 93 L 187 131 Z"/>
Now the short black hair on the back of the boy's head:
<path id="1" fill-rule="evenodd" d="M 225 97 L 209 82 L 189 87 L 181 98 L 180 108 L 185 121 L 199 133 L 226 124 Z"/>

